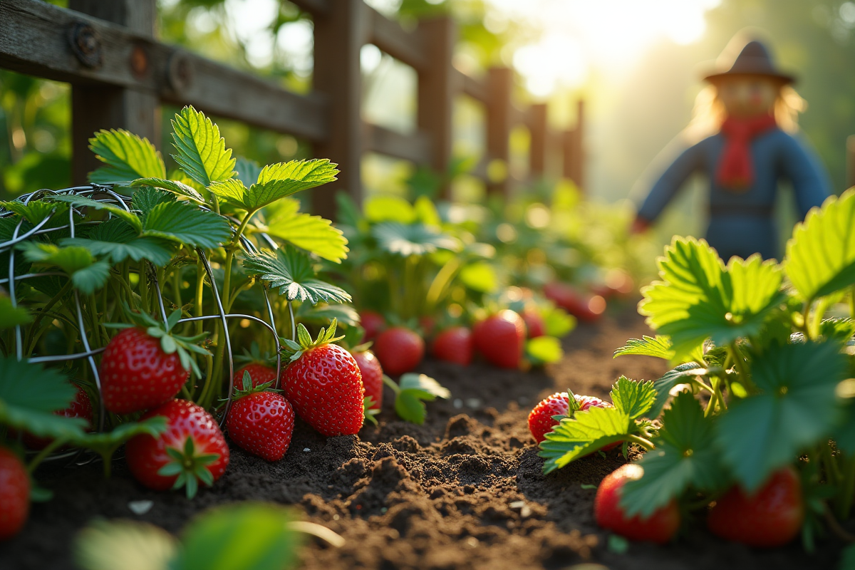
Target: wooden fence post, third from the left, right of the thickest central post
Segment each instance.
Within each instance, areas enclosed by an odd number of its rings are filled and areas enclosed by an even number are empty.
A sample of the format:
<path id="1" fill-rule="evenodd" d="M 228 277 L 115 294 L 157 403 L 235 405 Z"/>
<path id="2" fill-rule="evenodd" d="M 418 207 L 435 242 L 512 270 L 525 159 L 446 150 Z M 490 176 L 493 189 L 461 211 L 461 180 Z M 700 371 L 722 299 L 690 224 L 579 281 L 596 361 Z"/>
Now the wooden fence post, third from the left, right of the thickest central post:
<path id="1" fill-rule="evenodd" d="M 428 65 L 419 72 L 418 126 L 430 136 L 430 166 L 445 178 L 451 165 L 454 99 L 457 95 L 455 70 L 451 65 L 457 26 L 451 18 L 419 22 L 419 33 L 428 53 Z M 448 199 L 450 187 L 444 183 L 439 197 Z"/>

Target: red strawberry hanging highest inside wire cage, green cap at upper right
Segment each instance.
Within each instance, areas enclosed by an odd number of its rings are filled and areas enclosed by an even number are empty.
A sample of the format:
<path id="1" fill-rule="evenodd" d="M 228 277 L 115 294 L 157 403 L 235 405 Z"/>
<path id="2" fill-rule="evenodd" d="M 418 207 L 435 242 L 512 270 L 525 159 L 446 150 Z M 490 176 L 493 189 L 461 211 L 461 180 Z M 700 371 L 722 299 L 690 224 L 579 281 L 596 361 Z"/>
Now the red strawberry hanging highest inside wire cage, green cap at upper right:
<path id="1" fill-rule="evenodd" d="M 181 390 L 191 370 L 201 376 L 188 350 L 207 355 L 195 343 L 201 337 L 170 334 L 181 318 L 175 310 L 167 322 L 148 314 L 127 312 L 137 326 L 111 338 L 101 360 L 101 396 L 114 414 L 132 414 L 166 403 Z"/>

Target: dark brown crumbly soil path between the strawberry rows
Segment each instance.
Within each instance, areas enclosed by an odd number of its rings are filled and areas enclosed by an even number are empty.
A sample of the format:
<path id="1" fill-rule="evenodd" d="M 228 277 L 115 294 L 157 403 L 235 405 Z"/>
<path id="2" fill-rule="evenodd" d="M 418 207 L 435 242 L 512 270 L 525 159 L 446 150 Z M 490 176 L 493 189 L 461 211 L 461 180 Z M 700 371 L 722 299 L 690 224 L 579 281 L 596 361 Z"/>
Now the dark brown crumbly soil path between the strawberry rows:
<path id="1" fill-rule="evenodd" d="M 611 358 L 627 338 L 645 332 L 632 308 L 581 326 L 564 343 L 564 361 L 545 372 L 427 361 L 421 371 L 453 396 L 428 404 L 424 426 L 395 420 L 389 403 L 380 427 L 363 428 L 358 437 L 325 439 L 298 422 L 282 461 L 268 463 L 233 448 L 227 473 L 192 502 L 179 493 L 144 489 L 123 461 L 116 461 L 109 480 L 99 465 L 53 468 L 39 479 L 56 497 L 35 505 L 21 535 L 0 544 L 0 568 L 74 567 L 71 540 L 93 517 L 145 520 L 178 532 L 200 510 L 248 499 L 296 505 L 346 539 L 341 549 L 307 544 L 307 570 L 834 567 L 840 544 L 821 544 L 815 555 L 806 555 L 798 542 L 754 550 L 712 538 L 702 521 L 688 525 L 675 544 L 630 544 L 616 554 L 593 521 L 596 491 L 581 485 L 597 485 L 622 464 L 619 454 L 594 455 L 541 474 L 528 411 L 567 386 L 605 397 L 622 373 L 660 376 L 665 367 L 655 359 Z M 128 502 L 144 499 L 154 507 L 133 514 Z"/>

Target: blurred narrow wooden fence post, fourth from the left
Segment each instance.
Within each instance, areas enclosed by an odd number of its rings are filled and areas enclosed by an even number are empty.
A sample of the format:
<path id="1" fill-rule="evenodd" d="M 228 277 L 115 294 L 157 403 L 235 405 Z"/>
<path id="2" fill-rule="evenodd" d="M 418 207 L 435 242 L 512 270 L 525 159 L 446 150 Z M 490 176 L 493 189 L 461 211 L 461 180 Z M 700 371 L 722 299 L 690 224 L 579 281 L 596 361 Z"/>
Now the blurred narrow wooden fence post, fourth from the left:
<path id="1" fill-rule="evenodd" d="M 496 169 L 488 168 L 487 192 L 500 193 L 505 197 L 510 193 L 508 170 L 512 87 L 513 73 L 510 68 L 490 68 L 487 75 L 486 155 L 488 161 L 500 161 L 504 164 L 504 176 L 501 179 L 490 179 L 491 174 L 495 175 Z"/>

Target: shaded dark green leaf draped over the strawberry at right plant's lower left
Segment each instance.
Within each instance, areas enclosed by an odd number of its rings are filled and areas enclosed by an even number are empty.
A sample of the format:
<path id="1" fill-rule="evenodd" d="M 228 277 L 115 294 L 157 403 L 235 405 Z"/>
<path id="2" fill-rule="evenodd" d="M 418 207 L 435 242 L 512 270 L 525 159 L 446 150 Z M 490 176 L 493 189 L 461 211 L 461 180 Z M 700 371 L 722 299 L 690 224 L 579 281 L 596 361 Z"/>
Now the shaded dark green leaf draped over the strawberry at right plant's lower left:
<path id="1" fill-rule="evenodd" d="M 692 394 L 675 397 L 663 415 L 663 428 L 654 440 L 656 449 L 641 458 L 641 479 L 623 487 L 621 505 L 628 517 L 652 515 L 689 487 L 712 491 L 725 480 L 714 445 L 712 420 Z"/>

